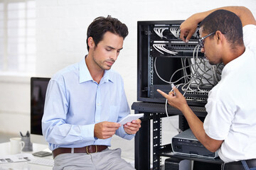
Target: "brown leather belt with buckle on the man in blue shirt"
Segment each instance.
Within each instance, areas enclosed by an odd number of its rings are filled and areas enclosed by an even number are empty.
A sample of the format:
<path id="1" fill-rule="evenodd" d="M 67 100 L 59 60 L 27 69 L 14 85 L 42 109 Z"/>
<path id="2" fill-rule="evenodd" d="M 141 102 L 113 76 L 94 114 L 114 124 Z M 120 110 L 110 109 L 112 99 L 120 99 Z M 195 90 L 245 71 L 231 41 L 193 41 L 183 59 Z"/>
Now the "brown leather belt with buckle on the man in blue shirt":
<path id="1" fill-rule="evenodd" d="M 87 147 L 74 148 L 74 153 L 92 154 L 92 153 L 102 152 L 102 150 L 105 150 L 105 149 L 107 149 L 107 146 L 105 145 L 90 145 Z M 53 150 L 53 158 L 57 157 L 57 155 L 59 154 L 71 153 L 71 151 L 72 151 L 71 148 L 58 147 L 57 149 Z"/>

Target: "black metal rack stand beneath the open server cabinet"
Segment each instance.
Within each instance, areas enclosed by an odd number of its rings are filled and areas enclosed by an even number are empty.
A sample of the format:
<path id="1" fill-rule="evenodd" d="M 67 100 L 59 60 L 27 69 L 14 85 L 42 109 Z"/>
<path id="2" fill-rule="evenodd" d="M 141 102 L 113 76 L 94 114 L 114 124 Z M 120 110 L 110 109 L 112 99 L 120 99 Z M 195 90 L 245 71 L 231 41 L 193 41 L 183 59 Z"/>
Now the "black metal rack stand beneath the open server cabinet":
<path id="1" fill-rule="evenodd" d="M 206 108 L 200 106 L 191 106 L 191 110 L 203 120 L 206 117 Z M 142 127 L 135 136 L 135 169 L 150 169 L 150 150 L 153 147 L 153 169 L 161 169 L 160 157 L 174 157 L 172 154 L 171 144 L 161 145 L 161 118 L 166 117 L 165 104 L 163 103 L 146 103 L 134 102 L 132 109 L 136 113 L 144 113 L 142 118 Z M 168 106 L 169 115 L 179 115 L 179 128 L 181 130 L 188 129 L 188 123 L 183 117 L 181 111 L 176 108 Z M 153 124 L 153 136 L 151 137 L 151 123 Z M 152 141 L 152 143 L 151 143 Z M 220 159 L 196 159 L 192 157 L 178 157 L 179 159 L 191 159 L 196 162 L 203 162 L 209 164 L 222 164 Z M 217 170 L 217 169 L 216 169 Z"/>

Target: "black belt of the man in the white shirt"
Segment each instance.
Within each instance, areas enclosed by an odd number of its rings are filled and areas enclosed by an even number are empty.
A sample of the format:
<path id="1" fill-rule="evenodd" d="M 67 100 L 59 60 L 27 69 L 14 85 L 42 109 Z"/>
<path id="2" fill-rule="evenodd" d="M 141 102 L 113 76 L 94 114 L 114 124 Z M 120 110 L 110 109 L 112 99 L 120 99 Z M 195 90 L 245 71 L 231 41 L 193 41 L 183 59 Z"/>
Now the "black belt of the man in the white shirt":
<path id="1" fill-rule="evenodd" d="M 247 163 L 247 166 L 249 167 L 249 169 L 256 168 L 256 159 L 248 159 L 248 160 L 245 160 L 245 162 Z M 242 166 L 241 161 L 228 162 L 224 164 L 224 170 L 243 170 L 243 169 L 245 168 L 244 166 Z"/>

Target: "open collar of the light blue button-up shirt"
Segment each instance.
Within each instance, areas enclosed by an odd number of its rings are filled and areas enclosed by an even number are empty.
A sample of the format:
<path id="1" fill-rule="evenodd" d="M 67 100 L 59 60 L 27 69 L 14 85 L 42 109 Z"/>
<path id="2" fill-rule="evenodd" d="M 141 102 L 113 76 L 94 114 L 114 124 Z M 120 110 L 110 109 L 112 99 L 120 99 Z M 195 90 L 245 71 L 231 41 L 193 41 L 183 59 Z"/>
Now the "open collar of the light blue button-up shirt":
<path id="1" fill-rule="evenodd" d="M 85 59 L 79 62 L 79 83 L 83 83 L 85 81 L 94 81 L 92 76 L 87 68 L 85 63 Z M 101 79 L 101 83 L 107 83 L 108 81 L 113 82 L 112 72 L 111 70 L 105 70 L 104 75 Z"/>

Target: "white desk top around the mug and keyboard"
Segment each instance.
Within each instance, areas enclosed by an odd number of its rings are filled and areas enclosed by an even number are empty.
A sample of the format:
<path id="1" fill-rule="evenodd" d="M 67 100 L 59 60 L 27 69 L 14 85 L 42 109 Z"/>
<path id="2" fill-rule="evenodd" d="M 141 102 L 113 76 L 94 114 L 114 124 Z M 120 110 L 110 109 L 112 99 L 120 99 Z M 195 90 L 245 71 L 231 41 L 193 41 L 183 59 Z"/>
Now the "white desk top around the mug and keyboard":
<path id="1" fill-rule="evenodd" d="M 38 152 L 43 149 L 48 148 L 48 145 L 41 145 L 33 143 L 33 152 Z M 23 153 L 33 153 L 33 152 L 23 152 Z M 8 155 L 10 154 L 10 142 L 0 143 L 0 155 Z M 45 157 L 52 159 L 52 156 Z M 50 166 L 42 166 L 36 164 L 28 164 L 28 162 L 16 162 L 9 164 L 0 164 L 0 167 L 8 167 L 12 169 L 23 169 L 23 170 L 52 170 L 53 168 Z"/>

